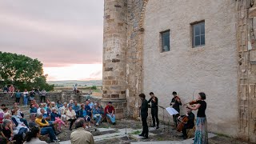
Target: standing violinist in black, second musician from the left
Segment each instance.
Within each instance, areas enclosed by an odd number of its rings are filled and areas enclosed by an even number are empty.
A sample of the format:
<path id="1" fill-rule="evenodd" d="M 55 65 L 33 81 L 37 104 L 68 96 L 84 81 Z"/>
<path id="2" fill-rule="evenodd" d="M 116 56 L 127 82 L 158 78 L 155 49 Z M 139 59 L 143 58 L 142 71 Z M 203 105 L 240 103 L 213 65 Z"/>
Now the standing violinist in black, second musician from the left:
<path id="1" fill-rule="evenodd" d="M 156 129 L 159 128 L 159 120 L 158 120 L 158 98 L 156 96 L 154 96 L 153 92 L 150 92 L 150 100 L 148 101 L 148 103 L 151 102 L 151 115 L 152 115 L 152 119 L 153 119 L 153 125 L 151 127 L 155 126 L 155 121 L 157 121 L 157 127 Z"/>

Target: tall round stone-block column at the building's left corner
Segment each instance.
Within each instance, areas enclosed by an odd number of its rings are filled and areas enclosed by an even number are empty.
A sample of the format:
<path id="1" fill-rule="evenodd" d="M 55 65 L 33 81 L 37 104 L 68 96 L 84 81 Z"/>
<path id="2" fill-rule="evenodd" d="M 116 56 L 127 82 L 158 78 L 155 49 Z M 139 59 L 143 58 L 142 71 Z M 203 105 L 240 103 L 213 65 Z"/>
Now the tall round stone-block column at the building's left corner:
<path id="1" fill-rule="evenodd" d="M 114 102 L 116 118 L 126 105 L 127 0 L 105 0 L 102 105 Z"/>

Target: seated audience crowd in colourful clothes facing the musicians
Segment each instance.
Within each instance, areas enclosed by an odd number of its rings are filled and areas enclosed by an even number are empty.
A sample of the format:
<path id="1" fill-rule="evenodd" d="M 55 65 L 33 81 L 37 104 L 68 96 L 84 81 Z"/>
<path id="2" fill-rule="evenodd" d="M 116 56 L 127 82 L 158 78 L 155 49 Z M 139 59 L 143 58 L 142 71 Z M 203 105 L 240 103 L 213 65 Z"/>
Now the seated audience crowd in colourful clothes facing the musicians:
<path id="1" fill-rule="evenodd" d="M 33 97 L 34 90 L 31 91 Z M 27 106 L 28 92 L 25 90 L 21 96 L 25 98 L 24 106 Z M 92 102 L 91 99 L 86 102 L 78 103 L 77 101 L 70 100 L 62 102 L 58 100 L 50 102 L 47 99 L 46 103 L 37 103 L 34 98 L 30 101 L 30 122 L 26 121 L 22 110 L 18 107 L 18 100 L 14 102 L 14 106 L 11 112 L 8 112 L 6 105 L 2 104 L 0 107 L 0 124 L 4 131 L 0 130 L 0 134 L 4 135 L 8 141 L 15 139 L 17 142 L 22 143 L 23 138 L 26 134 L 26 142 L 24 143 L 45 143 L 39 140 L 40 135 L 47 135 L 50 138 L 50 142 L 59 141 L 57 138 L 57 131 L 62 130 L 62 126 L 68 126 L 69 130 L 72 130 L 75 122 L 75 130 L 71 136 L 72 143 L 78 143 L 80 140 L 78 137 L 85 138 L 86 142 L 94 142 L 94 139 L 90 133 L 86 133 L 84 128 L 89 128 L 90 122 L 93 120 L 94 124 L 98 126 L 102 121 L 102 115 L 106 114 L 106 117 L 110 119 L 111 123 L 115 123 L 114 106 L 109 102 L 108 105 L 103 109 L 100 102 Z M 38 105 L 39 104 L 39 105 Z M 78 118 L 78 119 L 77 119 Z M 76 121 L 77 120 L 77 121 Z M 80 131 L 82 130 L 82 131 Z M 85 131 L 85 132 L 84 132 Z M 81 132 L 81 133 L 79 133 Z M 78 136 L 81 134 L 81 136 Z M 76 139 L 78 138 L 78 139 Z M 87 140 L 88 139 L 88 140 Z"/>

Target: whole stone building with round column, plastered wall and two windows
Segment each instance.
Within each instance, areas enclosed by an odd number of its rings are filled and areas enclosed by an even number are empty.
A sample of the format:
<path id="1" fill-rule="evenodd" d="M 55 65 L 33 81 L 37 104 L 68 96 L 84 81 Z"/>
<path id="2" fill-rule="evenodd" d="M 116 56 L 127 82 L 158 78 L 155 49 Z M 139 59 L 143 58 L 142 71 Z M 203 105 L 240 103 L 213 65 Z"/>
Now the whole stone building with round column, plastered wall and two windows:
<path id="1" fill-rule="evenodd" d="M 102 102 L 137 118 L 140 93 L 203 91 L 210 131 L 256 142 L 255 17 L 254 0 L 105 0 Z"/>

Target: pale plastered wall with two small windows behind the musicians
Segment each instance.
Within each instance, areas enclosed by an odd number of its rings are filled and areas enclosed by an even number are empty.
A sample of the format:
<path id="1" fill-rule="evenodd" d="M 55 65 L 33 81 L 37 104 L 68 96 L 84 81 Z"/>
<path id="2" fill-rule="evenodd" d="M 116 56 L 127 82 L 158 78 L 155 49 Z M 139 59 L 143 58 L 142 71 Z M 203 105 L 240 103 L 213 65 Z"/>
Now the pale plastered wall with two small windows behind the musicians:
<path id="1" fill-rule="evenodd" d="M 143 92 L 153 91 L 159 105 L 167 107 L 174 90 L 183 103 L 204 91 L 208 129 L 232 136 L 238 134 L 235 4 L 234 0 L 150 0 L 143 41 Z M 202 20 L 206 45 L 192 48 L 190 24 Z M 162 53 L 164 30 L 170 30 L 170 51 Z"/>

